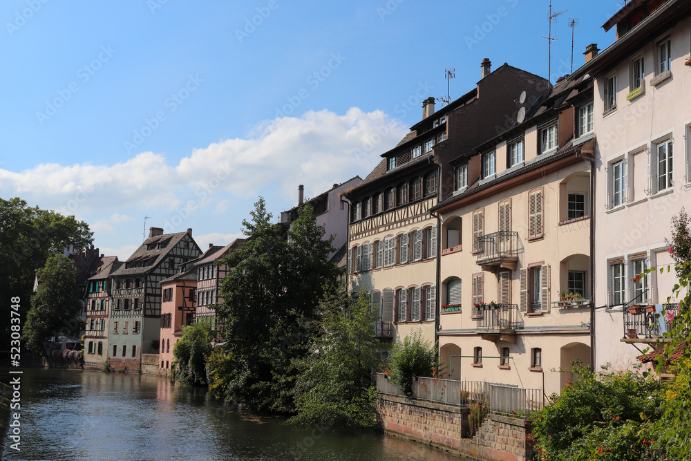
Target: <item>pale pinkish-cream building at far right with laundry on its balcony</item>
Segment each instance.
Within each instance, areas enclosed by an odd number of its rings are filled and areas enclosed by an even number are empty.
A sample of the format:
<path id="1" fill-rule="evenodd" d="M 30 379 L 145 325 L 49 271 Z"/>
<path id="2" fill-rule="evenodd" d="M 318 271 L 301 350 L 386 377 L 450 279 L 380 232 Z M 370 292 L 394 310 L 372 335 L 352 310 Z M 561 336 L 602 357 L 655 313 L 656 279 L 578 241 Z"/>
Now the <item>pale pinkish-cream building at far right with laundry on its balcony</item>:
<path id="1" fill-rule="evenodd" d="M 689 1 L 630 2 L 603 26 L 614 44 L 575 73 L 595 84 L 596 368 L 630 369 L 661 336 L 654 312 L 627 306 L 667 303 L 675 283 L 634 278 L 673 263 L 670 220 L 691 205 L 690 15 Z"/>

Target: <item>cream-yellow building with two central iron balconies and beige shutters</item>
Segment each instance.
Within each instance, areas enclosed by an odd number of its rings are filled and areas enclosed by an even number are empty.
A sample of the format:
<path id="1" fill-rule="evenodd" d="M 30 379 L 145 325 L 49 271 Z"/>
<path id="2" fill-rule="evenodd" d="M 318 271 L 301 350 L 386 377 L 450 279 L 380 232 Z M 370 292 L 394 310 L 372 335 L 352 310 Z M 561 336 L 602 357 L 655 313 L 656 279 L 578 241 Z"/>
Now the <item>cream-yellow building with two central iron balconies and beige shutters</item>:
<path id="1" fill-rule="evenodd" d="M 551 369 L 591 363 L 592 97 L 562 79 L 527 120 L 452 162 L 456 190 L 433 208 L 448 377 L 549 394 L 569 379 Z"/>

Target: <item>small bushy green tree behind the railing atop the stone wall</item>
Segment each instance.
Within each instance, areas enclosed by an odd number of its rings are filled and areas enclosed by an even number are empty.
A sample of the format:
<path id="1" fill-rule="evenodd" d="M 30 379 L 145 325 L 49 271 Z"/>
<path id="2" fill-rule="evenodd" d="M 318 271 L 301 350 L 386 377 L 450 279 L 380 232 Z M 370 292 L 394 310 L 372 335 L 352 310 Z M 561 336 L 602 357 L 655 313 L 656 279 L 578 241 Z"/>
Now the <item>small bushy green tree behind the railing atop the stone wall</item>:
<path id="1" fill-rule="evenodd" d="M 432 344 L 422 337 L 422 329 L 413 331 L 403 341 L 393 345 L 389 356 L 392 382 L 406 395 L 413 393 L 413 377 L 434 377 L 442 375 L 442 361 L 437 350 L 438 344 Z"/>

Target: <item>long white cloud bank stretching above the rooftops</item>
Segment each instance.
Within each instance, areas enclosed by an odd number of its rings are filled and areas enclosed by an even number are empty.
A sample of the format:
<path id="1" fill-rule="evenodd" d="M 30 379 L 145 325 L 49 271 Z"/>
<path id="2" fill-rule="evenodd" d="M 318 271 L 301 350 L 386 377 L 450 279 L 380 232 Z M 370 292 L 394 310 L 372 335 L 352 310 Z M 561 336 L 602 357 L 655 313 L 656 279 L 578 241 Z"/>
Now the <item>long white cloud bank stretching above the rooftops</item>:
<path id="1" fill-rule="evenodd" d="M 294 196 L 298 184 L 305 185 L 307 196 L 316 196 L 334 182 L 364 178 L 379 162 L 379 154 L 407 131 L 382 111 L 310 111 L 262 122 L 247 139 L 194 149 L 176 165 L 160 154 L 144 152 L 111 165 L 50 163 L 21 172 L 0 169 L 0 196 L 21 196 L 83 219 L 96 211 L 114 213 L 95 224 L 100 232 L 114 232 L 112 224 L 129 218 L 118 214 L 128 207 L 162 210 L 172 217 L 189 200 L 199 210 L 216 199 L 217 211 L 222 211 L 227 194 L 254 198 L 270 187 Z M 215 198 L 219 191 L 225 194 Z"/>

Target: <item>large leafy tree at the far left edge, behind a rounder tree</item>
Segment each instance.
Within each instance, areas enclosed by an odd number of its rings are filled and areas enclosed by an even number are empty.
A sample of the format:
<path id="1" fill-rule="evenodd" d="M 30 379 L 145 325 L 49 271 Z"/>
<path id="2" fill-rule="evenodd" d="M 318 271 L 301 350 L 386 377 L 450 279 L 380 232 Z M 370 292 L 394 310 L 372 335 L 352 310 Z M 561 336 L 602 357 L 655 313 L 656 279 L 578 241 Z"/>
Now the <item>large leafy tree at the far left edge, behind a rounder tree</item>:
<path id="1" fill-rule="evenodd" d="M 92 242 L 93 232 L 74 216 L 28 207 L 20 198 L 0 198 L 0 317 L 10 318 L 12 297 L 21 299 L 21 314 L 26 314 L 36 272 L 51 254 L 69 245 L 82 251 Z M 2 344 L 9 344 L 9 328 L 10 322 L 0 326 Z"/>

